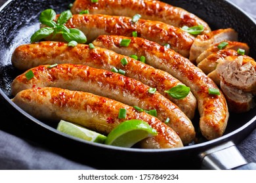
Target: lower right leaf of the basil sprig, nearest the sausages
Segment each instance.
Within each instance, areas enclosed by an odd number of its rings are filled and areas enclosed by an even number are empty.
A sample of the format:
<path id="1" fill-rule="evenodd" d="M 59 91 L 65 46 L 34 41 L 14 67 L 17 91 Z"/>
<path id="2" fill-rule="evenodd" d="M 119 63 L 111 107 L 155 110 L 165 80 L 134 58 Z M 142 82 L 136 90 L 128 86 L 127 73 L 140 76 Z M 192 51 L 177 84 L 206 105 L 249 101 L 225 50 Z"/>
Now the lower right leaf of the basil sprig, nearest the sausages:
<path id="1" fill-rule="evenodd" d="M 87 41 L 86 36 L 79 29 L 70 29 L 70 33 L 63 33 L 63 38 L 67 41 L 76 41 L 78 43 L 85 43 Z"/>

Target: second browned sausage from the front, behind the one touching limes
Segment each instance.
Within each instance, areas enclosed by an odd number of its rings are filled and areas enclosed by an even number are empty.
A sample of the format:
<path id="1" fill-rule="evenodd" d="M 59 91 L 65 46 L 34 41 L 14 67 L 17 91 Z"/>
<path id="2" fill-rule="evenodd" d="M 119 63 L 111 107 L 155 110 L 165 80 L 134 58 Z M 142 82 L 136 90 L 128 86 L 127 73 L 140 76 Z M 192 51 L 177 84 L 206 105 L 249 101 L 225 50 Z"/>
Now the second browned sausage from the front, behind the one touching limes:
<path id="1" fill-rule="evenodd" d="M 169 118 L 167 125 L 179 134 L 183 144 L 194 140 L 196 134 L 190 120 L 184 118 L 183 112 L 160 93 L 149 93 L 149 86 L 117 73 L 85 65 L 61 64 L 53 68 L 49 66 L 41 65 L 30 69 L 34 73 L 30 80 L 26 78 L 28 71 L 17 76 L 12 82 L 12 95 L 29 88 L 50 86 L 94 93 L 126 105 L 146 110 L 156 109 L 157 118 L 161 122 Z"/>

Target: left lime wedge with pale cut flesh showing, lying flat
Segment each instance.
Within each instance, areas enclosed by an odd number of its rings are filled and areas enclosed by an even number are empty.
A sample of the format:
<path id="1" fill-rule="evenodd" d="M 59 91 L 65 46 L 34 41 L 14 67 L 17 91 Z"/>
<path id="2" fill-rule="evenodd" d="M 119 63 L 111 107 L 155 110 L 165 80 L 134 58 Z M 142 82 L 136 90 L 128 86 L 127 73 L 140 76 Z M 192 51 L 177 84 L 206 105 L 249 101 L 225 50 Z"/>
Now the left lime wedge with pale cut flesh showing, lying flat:
<path id="1" fill-rule="evenodd" d="M 104 141 L 106 140 L 105 135 L 97 133 L 96 131 L 91 131 L 80 125 L 66 122 L 64 120 L 60 120 L 57 130 L 68 135 L 83 139 L 85 141 L 104 143 Z"/>

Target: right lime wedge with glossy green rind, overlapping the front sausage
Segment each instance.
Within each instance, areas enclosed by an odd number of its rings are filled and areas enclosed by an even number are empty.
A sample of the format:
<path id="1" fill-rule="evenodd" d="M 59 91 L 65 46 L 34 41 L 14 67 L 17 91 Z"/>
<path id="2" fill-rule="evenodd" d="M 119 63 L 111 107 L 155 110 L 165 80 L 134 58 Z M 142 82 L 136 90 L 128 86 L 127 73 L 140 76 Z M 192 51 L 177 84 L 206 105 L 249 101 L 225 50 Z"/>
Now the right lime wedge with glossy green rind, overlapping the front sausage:
<path id="1" fill-rule="evenodd" d="M 130 148 L 147 137 L 158 135 L 156 129 L 142 120 L 127 120 L 117 125 L 110 133 L 105 144 Z"/>

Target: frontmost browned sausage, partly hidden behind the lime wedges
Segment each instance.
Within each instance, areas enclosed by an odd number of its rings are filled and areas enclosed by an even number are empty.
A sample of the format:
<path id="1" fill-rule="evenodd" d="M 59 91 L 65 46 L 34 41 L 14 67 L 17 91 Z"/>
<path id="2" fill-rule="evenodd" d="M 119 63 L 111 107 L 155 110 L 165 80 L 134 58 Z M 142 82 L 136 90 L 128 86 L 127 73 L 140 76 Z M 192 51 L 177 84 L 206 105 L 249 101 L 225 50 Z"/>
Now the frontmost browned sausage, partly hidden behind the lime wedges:
<path id="1" fill-rule="evenodd" d="M 67 120 L 104 135 L 108 135 L 116 125 L 125 120 L 143 120 L 158 131 L 158 135 L 144 141 L 143 148 L 182 146 L 177 133 L 157 118 L 146 114 L 146 112 L 136 112 L 133 107 L 92 93 L 61 88 L 33 88 L 22 90 L 12 101 L 35 118 Z M 125 119 L 118 118 L 120 108 L 127 110 Z"/>

